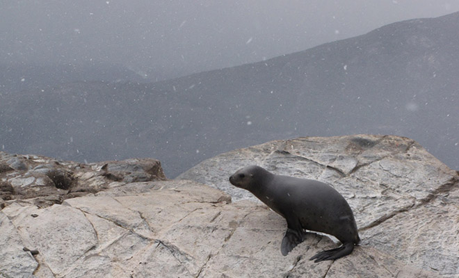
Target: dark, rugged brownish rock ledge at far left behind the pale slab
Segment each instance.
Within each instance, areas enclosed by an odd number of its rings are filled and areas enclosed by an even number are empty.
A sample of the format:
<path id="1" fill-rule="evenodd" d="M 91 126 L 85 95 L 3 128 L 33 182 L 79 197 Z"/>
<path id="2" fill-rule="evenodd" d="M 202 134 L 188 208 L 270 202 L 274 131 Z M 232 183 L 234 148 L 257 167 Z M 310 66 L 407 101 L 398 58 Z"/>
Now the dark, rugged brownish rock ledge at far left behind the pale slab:
<path id="1" fill-rule="evenodd" d="M 0 208 L 12 199 L 33 199 L 39 207 L 51 206 L 113 186 L 165 179 L 155 159 L 82 164 L 0 152 Z"/>

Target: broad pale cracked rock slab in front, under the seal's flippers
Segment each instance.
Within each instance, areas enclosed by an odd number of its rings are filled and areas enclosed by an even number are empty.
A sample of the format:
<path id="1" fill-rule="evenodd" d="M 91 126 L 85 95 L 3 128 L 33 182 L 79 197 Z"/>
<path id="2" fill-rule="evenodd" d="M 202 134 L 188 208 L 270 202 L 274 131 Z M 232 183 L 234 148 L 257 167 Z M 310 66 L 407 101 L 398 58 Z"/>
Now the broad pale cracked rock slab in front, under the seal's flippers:
<path id="1" fill-rule="evenodd" d="M 135 187 L 143 193 L 134 193 Z M 24 244 L 40 251 L 35 276 L 437 277 L 365 246 L 344 259 L 316 264 L 309 256 L 335 245 L 318 235 L 282 256 L 283 218 L 254 202 L 228 203 L 222 191 L 193 181 L 133 183 L 126 193 L 112 188 L 99 194 L 41 209 L 19 204 L 3 209 Z"/>

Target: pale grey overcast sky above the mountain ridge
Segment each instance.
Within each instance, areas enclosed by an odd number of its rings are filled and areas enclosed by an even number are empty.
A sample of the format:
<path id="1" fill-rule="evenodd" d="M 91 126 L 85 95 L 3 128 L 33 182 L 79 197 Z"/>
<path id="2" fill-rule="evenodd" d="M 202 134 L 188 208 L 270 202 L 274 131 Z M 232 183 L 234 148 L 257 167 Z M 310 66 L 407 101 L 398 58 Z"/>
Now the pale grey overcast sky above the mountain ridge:
<path id="1" fill-rule="evenodd" d="M 458 0 L 0 0 L 0 61 L 104 60 L 163 78 L 458 10 Z"/>

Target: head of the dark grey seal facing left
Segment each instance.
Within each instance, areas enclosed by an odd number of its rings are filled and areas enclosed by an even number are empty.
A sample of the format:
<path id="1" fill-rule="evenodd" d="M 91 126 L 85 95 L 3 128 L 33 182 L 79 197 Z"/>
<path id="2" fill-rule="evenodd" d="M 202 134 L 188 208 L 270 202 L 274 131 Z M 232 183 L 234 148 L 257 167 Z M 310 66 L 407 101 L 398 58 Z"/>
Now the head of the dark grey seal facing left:
<path id="1" fill-rule="evenodd" d="M 264 181 L 268 175 L 271 175 L 271 173 L 262 167 L 257 165 L 247 166 L 232 174 L 230 183 L 239 188 L 252 190 L 257 184 Z"/>

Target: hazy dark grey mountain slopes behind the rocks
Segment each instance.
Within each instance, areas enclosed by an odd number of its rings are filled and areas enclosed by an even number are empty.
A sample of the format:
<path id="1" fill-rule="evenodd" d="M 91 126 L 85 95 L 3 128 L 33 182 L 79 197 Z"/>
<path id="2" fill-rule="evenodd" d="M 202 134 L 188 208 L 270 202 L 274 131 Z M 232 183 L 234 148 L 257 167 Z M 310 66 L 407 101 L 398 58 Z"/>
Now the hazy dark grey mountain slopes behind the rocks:
<path id="1" fill-rule="evenodd" d="M 0 147 L 77 161 L 150 156 L 168 177 L 295 136 L 408 136 L 459 168 L 459 13 L 158 83 L 2 93 Z M 3 145 L 3 146 L 2 146 Z"/>

